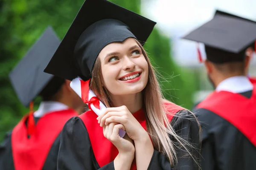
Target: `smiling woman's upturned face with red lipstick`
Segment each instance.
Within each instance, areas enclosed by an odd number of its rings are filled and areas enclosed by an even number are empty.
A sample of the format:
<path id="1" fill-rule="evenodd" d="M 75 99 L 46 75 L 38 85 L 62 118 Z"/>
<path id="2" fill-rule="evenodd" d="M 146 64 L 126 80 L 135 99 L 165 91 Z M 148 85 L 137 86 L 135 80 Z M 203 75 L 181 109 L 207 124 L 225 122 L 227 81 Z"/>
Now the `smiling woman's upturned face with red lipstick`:
<path id="1" fill-rule="evenodd" d="M 148 63 L 134 40 L 112 42 L 99 53 L 105 87 L 112 95 L 141 92 L 148 82 Z"/>

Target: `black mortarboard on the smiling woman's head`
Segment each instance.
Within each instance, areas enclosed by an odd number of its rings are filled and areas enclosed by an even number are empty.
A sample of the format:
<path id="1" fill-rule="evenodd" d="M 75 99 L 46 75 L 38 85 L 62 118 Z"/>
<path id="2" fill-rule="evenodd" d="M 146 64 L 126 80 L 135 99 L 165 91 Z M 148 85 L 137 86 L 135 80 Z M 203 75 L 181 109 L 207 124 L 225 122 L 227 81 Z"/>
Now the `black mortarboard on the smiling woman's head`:
<path id="1" fill-rule="evenodd" d="M 143 44 L 155 24 L 107 0 L 86 0 L 44 71 L 86 81 L 102 48 L 128 37 Z"/>

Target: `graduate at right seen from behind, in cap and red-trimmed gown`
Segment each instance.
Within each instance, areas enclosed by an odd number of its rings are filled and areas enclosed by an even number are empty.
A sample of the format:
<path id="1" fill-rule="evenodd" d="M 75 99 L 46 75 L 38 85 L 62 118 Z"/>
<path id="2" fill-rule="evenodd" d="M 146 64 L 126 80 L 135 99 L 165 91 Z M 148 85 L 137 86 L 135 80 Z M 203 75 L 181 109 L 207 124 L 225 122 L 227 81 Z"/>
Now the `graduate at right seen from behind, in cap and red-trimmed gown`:
<path id="1" fill-rule="evenodd" d="M 245 76 L 256 23 L 218 15 L 184 39 L 202 42 L 215 91 L 194 113 L 202 126 L 203 170 L 256 169 L 256 85 Z"/>

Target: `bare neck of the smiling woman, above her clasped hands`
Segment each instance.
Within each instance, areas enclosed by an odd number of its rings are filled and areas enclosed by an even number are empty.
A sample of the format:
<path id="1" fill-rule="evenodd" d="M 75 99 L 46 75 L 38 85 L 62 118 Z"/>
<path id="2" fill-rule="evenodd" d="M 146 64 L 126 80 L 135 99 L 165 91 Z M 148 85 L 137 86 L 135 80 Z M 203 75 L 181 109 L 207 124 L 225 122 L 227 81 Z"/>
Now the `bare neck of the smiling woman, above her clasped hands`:
<path id="1" fill-rule="evenodd" d="M 125 105 L 131 113 L 140 110 L 143 105 L 142 92 L 128 95 L 111 95 L 113 107 Z"/>

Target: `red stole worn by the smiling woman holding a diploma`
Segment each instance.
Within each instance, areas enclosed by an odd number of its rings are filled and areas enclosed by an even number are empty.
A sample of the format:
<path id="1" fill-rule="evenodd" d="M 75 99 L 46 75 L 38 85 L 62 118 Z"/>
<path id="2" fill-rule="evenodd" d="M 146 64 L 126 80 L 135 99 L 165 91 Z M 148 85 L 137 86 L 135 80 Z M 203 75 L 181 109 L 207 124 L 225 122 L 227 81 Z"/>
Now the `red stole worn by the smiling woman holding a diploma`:
<path id="1" fill-rule="evenodd" d="M 180 110 L 183 110 L 180 106 L 177 106 L 173 103 L 165 103 L 166 109 L 170 113 L 177 113 Z M 169 115 L 169 122 L 172 121 L 173 115 Z M 139 110 L 133 113 L 133 116 L 140 122 L 140 125 L 146 130 L 146 120 L 145 113 L 143 110 Z M 104 137 L 103 127 L 100 127 L 96 118 L 98 117 L 93 111 L 87 111 L 84 114 L 79 116 L 88 131 L 90 143 L 93 149 L 94 156 L 100 167 L 113 161 L 118 155 L 117 148 Z M 135 161 L 131 166 L 131 170 L 136 170 Z"/>

